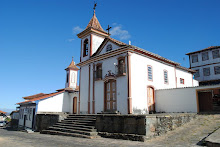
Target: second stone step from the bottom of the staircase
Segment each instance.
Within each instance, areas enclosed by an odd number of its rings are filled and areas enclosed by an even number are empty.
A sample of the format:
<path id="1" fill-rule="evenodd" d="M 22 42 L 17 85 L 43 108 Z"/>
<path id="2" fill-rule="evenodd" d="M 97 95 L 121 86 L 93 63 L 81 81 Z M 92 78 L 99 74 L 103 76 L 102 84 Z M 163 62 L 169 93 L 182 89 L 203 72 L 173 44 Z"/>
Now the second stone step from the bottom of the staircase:
<path id="1" fill-rule="evenodd" d="M 77 134 L 83 134 L 83 135 L 88 135 L 88 136 L 96 136 L 98 134 L 97 132 L 80 131 L 80 130 L 75 130 L 75 129 L 66 129 L 66 128 L 59 128 L 59 127 L 50 127 L 48 130 L 68 132 L 68 133 L 77 133 Z"/>

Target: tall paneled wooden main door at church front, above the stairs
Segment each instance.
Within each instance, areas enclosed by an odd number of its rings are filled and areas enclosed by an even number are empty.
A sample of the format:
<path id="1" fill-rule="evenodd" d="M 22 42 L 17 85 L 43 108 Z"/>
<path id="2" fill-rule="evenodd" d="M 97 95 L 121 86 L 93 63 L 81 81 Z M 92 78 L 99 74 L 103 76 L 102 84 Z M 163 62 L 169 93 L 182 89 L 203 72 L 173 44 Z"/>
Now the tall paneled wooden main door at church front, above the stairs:
<path id="1" fill-rule="evenodd" d="M 116 81 L 110 80 L 105 83 L 105 111 L 114 112 L 116 110 Z"/>

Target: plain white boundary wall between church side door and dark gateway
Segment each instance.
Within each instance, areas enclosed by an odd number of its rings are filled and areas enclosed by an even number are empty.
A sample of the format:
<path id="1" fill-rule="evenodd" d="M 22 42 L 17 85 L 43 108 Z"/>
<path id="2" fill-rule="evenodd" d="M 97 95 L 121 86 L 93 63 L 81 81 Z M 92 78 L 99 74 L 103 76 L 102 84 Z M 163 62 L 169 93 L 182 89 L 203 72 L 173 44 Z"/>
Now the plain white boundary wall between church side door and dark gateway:
<path id="1" fill-rule="evenodd" d="M 196 90 L 218 87 L 220 85 L 156 90 L 156 111 L 197 113 Z"/>

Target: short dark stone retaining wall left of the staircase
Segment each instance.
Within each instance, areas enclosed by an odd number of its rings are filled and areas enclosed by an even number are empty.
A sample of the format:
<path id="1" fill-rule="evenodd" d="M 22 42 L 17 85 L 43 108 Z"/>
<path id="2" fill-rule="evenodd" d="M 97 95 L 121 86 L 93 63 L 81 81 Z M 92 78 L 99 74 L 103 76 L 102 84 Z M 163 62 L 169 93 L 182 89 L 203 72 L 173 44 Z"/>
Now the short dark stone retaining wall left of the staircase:
<path id="1" fill-rule="evenodd" d="M 42 131 L 53 126 L 57 122 L 64 120 L 68 114 L 37 114 L 36 115 L 36 124 L 35 131 Z"/>

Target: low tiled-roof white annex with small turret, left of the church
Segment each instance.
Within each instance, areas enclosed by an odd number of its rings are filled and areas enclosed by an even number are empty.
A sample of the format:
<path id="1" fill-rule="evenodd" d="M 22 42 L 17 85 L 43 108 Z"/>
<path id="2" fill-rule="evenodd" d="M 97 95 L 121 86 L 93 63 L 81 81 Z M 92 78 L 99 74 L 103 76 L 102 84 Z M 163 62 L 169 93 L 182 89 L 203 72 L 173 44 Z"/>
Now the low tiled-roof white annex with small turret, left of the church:
<path id="1" fill-rule="evenodd" d="M 36 115 L 46 113 L 77 113 L 77 99 L 79 87 L 77 86 L 78 68 L 72 60 L 66 70 L 65 88 L 54 93 L 39 93 L 23 97 L 25 101 L 17 103 L 19 110 L 19 127 L 33 129 Z"/>

